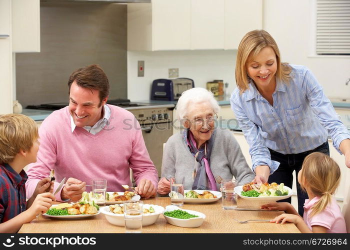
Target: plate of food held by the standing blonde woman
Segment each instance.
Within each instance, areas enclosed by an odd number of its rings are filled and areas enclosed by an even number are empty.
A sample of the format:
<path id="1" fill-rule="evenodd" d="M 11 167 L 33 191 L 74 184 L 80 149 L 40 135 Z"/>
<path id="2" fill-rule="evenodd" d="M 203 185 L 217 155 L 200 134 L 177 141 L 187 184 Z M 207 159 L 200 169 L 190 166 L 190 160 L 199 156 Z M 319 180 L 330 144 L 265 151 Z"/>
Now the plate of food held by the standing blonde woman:
<path id="1" fill-rule="evenodd" d="M 276 182 L 272 182 L 271 184 L 266 182 L 261 185 L 250 182 L 245 185 L 234 187 L 234 191 L 243 199 L 258 201 L 286 199 L 293 194 L 293 191 L 289 187 L 285 186 L 283 183 L 277 184 Z"/>

